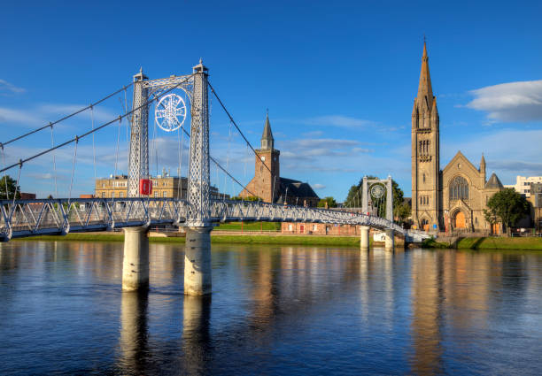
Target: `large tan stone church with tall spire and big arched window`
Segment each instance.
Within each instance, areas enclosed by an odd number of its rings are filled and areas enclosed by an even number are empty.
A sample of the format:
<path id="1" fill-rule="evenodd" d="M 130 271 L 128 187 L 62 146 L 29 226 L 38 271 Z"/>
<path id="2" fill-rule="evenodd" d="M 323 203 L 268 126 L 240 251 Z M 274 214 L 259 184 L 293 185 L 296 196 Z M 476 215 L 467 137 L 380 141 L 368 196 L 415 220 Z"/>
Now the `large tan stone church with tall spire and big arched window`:
<path id="1" fill-rule="evenodd" d="M 484 155 L 476 168 L 458 151 L 440 169 L 437 97 L 431 87 L 427 47 L 412 111 L 412 219 L 426 231 L 492 231 L 484 219 L 489 198 L 503 189 L 495 173 L 485 176 Z"/>

